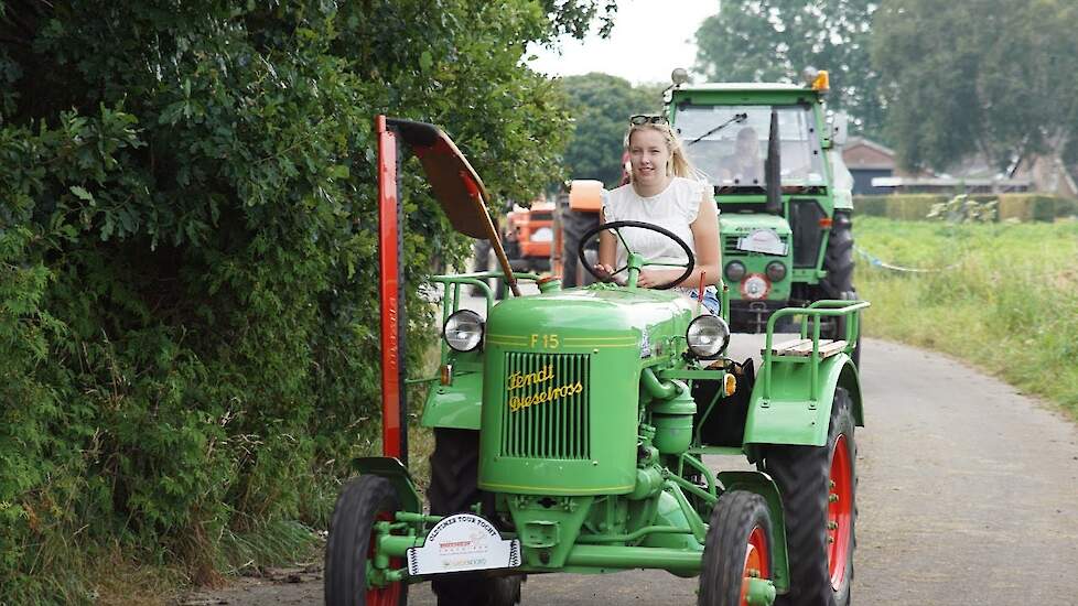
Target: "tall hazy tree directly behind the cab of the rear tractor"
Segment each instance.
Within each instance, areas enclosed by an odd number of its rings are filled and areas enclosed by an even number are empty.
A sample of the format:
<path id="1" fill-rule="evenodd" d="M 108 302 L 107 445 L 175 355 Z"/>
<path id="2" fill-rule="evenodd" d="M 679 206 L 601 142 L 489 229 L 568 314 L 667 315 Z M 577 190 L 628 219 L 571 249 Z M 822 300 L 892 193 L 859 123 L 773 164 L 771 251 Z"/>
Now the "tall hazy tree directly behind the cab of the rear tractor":
<path id="1" fill-rule="evenodd" d="M 873 0 L 727 0 L 697 31 L 697 68 L 713 82 L 800 82 L 808 66 L 831 76 L 831 109 L 878 137 L 883 106 L 870 62 Z"/>

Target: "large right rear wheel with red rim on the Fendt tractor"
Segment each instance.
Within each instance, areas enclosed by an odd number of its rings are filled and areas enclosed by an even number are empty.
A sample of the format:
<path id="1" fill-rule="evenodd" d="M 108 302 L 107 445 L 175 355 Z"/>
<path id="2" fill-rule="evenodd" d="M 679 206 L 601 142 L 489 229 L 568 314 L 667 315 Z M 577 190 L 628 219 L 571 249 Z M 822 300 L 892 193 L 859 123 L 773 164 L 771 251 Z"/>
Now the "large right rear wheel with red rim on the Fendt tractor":
<path id="1" fill-rule="evenodd" d="M 777 446 L 765 456 L 786 516 L 790 591 L 775 604 L 845 606 L 853 581 L 856 454 L 853 403 L 834 391 L 826 446 Z"/>

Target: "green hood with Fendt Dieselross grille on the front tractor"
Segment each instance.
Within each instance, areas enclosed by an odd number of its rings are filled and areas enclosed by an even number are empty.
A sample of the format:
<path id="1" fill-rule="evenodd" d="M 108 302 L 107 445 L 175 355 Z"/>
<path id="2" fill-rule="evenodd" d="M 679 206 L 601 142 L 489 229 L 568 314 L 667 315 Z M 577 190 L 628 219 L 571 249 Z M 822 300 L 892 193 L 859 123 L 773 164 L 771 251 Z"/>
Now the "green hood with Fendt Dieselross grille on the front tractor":
<path id="1" fill-rule="evenodd" d="M 684 347 L 693 306 L 678 293 L 608 284 L 495 305 L 483 357 L 479 488 L 632 491 L 642 368 Z M 565 531 L 580 522 L 560 523 Z"/>

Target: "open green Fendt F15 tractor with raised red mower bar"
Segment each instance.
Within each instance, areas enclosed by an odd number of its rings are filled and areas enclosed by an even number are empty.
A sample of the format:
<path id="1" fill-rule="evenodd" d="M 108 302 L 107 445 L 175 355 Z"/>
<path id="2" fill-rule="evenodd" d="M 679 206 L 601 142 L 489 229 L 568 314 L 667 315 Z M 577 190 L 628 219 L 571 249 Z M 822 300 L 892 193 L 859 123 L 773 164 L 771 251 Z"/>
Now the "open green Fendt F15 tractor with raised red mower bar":
<path id="1" fill-rule="evenodd" d="M 725 355 L 725 318 L 636 286 L 648 263 L 636 253 L 624 286 L 561 290 L 514 274 L 482 182 L 455 145 L 430 125 L 377 123 L 385 456 L 356 461 L 360 475 L 337 500 L 326 604 L 400 606 L 410 584 L 430 581 L 440 606 L 509 606 L 525 575 L 632 569 L 699 576 L 708 606 L 848 604 L 863 420 L 849 354 L 867 303 L 776 311 L 754 372 Z M 434 278 L 444 328 L 422 414 L 435 439 L 429 509 L 407 467 L 400 141 L 453 226 L 492 238 L 503 267 Z M 629 221 L 599 229 L 672 236 Z M 514 296 L 496 302 L 489 279 Z M 518 280 L 539 293 L 521 296 Z M 472 286 L 486 294 L 485 314 L 463 306 Z M 800 338 L 773 343 L 775 323 L 794 316 Z M 844 338 L 821 338 L 822 320 L 836 317 Z M 744 456 L 756 470 L 714 470 L 707 455 Z"/>

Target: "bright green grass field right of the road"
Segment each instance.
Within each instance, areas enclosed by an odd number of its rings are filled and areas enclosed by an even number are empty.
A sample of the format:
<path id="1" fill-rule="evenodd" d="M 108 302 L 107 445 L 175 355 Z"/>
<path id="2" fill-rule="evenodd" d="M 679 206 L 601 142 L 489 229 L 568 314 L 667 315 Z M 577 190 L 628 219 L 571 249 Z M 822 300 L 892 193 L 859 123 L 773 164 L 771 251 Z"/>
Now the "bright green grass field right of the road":
<path id="1" fill-rule="evenodd" d="M 935 349 L 1078 421 L 1078 221 L 961 224 L 855 217 L 867 336 Z"/>

